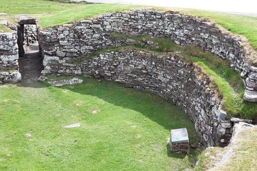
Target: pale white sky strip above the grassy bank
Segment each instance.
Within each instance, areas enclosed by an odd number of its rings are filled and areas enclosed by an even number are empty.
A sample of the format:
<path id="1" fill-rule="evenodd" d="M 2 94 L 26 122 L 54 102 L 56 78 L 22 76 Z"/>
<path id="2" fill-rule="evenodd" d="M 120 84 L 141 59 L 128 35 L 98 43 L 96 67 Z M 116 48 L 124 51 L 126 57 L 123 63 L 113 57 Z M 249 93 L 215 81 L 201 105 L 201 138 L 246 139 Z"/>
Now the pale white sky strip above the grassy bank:
<path id="1" fill-rule="evenodd" d="M 151 5 L 171 8 L 192 8 L 221 12 L 239 12 L 257 14 L 256 0 L 87 0 L 100 3 L 123 3 Z"/>

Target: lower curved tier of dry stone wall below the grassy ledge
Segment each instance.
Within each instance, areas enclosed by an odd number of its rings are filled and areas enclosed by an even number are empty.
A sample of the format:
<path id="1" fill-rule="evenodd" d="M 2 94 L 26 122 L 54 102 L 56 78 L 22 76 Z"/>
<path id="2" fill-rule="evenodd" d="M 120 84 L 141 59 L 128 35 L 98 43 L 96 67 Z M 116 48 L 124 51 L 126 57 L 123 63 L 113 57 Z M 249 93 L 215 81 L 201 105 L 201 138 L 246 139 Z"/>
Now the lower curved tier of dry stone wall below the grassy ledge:
<path id="1" fill-rule="evenodd" d="M 157 55 L 124 49 L 107 51 L 83 64 L 69 64 L 50 56 L 43 63 L 48 69 L 42 72 L 43 75 L 78 74 L 104 78 L 158 94 L 189 115 L 204 145 L 229 142 L 232 125 L 225 119 L 226 112 L 221 110 L 221 100 L 212 90 L 210 79 L 192 62 L 176 54 Z"/>

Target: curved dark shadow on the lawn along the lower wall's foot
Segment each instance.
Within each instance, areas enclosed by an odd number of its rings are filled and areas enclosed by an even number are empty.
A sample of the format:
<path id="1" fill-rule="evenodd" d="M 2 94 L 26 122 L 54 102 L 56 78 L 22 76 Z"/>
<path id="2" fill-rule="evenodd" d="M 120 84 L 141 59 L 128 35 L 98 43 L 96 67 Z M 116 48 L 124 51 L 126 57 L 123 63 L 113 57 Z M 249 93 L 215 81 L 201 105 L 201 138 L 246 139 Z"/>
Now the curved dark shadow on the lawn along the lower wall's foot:
<path id="1" fill-rule="evenodd" d="M 72 77 L 53 77 L 54 80 L 71 79 Z M 197 143 L 197 135 L 194 129 L 194 124 L 187 116 L 187 114 L 181 110 L 178 106 L 169 104 L 167 101 L 157 95 L 153 95 L 146 91 L 135 90 L 133 88 L 127 88 L 123 84 L 117 84 L 114 82 L 108 82 L 103 79 L 94 79 L 79 77 L 83 79 L 82 84 L 73 85 L 75 88 L 70 89 L 69 86 L 60 87 L 64 90 L 70 90 L 74 93 L 82 95 L 90 95 L 97 97 L 115 106 L 120 106 L 126 109 L 135 110 L 142 113 L 148 119 L 158 123 L 166 130 L 177 129 L 186 127 L 189 134 L 189 140 L 191 143 Z M 51 80 L 51 77 L 50 77 Z M 45 82 L 33 82 L 32 84 L 18 84 L 23 87 L 52 87 Z M 51 89 L 51 88 L 50 88 Z M 56 89 L 54 89 L 56 90 Z M 57 97 L 63 98 L 63 97 Z M 167 135 L 169 136 L 169 135 Z M 167 144 L 167 156 L 171 158 L 184 159 L 186 154 L 174 154 L 171 153 L 170 147 Z M 194 151 L 188 154 L 193 154 Z M 193 154 L 194 155 L 194 154 Z"/>

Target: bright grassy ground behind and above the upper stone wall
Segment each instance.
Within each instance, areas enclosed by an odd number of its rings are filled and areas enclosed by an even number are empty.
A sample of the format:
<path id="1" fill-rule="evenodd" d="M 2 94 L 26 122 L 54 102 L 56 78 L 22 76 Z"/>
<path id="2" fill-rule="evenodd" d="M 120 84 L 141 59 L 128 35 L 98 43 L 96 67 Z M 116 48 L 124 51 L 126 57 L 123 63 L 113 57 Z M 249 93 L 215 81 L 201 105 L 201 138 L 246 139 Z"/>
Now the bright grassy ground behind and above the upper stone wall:
<path id="1" fill-rule="evenodd" d="M 44 29 L 47 27 L 78 21 L 82 18 L 95 17 L 106 12 L 133 10 L 140 7 L 162 11 L 182 12 L 187 15 L 209 18 L 234 34 L 244 35 L 252 47 L 255 50 L 257 49 L 256 17 L 230 15 L 221 12 L 193 9 L 142 7 L 140 5 L 121 4 L 68 4 L 42 0 L 2 0 L 0 4 L 0 12 L 6 12 L 9 15 L 34 15 L 40 18 L 40 25 Z M 0 16 L 0 19 L 1 18 L 2 17 Z M 7 18 L 13 18 L 13 16 L 8 16 Z"/>

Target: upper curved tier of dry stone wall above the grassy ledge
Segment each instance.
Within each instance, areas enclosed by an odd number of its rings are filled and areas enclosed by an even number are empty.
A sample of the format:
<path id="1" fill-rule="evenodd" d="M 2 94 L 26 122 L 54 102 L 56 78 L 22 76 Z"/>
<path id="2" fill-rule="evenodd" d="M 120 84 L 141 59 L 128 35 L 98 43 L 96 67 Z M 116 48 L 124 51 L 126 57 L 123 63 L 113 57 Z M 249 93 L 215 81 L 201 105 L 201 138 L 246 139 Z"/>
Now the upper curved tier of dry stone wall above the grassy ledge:
<path id="1" fill-rule="evenodd" d="M 94 20 L 48 28 L 40 32 L 39 41 L 46 55 L 76 58 L 117 45 L 117 41 L 110 38 L 110 32 L 172 38 L 179 45 L 198 44 L 206 51 L 229 59 L 231 67 L 241 71 L 245 80 L 245 100 L 257 101 L 257 68 L 249 66 L 250 59 L 242 43 L 201 19 L 143 10 L 109 13 Z"/>

